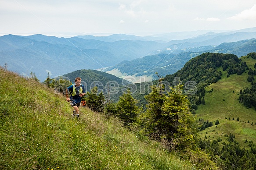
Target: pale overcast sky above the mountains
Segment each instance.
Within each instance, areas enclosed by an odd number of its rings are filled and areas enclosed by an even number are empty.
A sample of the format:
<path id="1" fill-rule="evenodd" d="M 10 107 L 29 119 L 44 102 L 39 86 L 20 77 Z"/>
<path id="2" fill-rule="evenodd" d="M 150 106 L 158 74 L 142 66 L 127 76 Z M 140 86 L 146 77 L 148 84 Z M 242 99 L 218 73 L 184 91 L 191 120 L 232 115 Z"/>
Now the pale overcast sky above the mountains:
<path id="1" fill-rule="evenodd" d="M 256 27 L 256 0 L 0 0 L 0 36 L 138 36 Z"/>

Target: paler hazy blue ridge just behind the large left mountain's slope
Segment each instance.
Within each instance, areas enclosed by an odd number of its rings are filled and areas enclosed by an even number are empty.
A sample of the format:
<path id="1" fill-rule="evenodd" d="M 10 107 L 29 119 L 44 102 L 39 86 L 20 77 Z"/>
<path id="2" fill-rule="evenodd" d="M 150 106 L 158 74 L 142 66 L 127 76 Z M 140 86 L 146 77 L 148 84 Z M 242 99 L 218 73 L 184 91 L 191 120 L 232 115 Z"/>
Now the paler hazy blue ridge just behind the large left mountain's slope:
<path id="1" fill-rule="evenodd" d="M 134 35 L 135 36 L 135 35 Z M 132 60 L 143 57 L 152 50 L 160 50 L 165 44 L 155 41 L 134 41 L 134 40 L 119 40 L 114 42 L 105 42 L 95 39 L 82 39 L 78 37 L 58 38 L 48 37 L 45 35 L 30 35 L 30 39 L 43 41 L 51 44 L 62 46 L 70 46 L 72 49 L 98 49 L 108 51 L 122 60 Z M 49 38 L 49 39 L 48 39 Z"/>

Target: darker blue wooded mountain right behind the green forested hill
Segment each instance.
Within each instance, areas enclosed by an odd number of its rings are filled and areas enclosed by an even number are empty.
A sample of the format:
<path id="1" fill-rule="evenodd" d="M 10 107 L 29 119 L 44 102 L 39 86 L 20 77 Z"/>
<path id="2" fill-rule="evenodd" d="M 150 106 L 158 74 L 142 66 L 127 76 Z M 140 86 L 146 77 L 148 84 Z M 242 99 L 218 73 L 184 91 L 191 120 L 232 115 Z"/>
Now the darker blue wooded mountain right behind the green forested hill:
<path id="1" fill-rule="evenodd" d="M 187 61 L 202 53 L 231 53 L 238 57 L 245 56 L 248 53 L 256 52 L 256 39 L 242 40 L 232 43 L 222 43 L 219 46 L 200 46 L 178 50 L 179 53 L 172 53 L 171 50 L 165 50 L 166 53 L 159 53 L 151 56 L 137 58 L 131 61 L 119 63 L 108 70 L 118 69 L 128 75 L 148 75 L 155 77 L 155 72 L 161 76 L 174 74 L 180 70 Z M 167 53 L 169 52 L 169 53 Z"/>

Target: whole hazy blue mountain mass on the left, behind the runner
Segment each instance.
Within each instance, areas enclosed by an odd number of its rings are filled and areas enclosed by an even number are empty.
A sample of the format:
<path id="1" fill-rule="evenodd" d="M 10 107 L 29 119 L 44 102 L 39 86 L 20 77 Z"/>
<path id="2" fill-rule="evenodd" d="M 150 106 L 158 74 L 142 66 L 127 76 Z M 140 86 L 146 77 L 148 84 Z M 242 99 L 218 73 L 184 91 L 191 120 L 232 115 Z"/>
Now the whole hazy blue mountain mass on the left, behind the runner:
<path id="1" fill-rule="evenodd" d="M 0 64 L 22 75 L 34 72 L 41 81 L 78 69 L 109 67 L 145 56 L 160 48 L 154 41 L 121 40 L 113 43 L 77 37 L 4 35 L 0 37 Z"/>

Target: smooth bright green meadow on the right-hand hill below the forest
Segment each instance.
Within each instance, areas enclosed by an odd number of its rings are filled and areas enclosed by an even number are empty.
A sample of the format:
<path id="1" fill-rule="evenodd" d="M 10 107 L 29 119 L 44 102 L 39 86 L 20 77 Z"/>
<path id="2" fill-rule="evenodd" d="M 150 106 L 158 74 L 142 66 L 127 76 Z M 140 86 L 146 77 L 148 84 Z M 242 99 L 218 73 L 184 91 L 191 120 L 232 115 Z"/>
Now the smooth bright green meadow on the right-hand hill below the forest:
<path id="1" fill-rule="evenodd" d="M 242 57 L 242 61 L 246 61 L 248 67 L 254 69 L 253 66 L 256 60 Z M 227 78 L 227 72 L 223 71 L 220 81 L 212 83 L 206 88 L 206 95 L 204 96 L 206 105 L 198 106 L 198 110 L 196 110 L 197 118 L 212 121 L 213 124 L 218 119 L 220 124 L 217 127 L 209 127 L 202 131 L 202 138 L 205 138 L 205 135 L 210 140 L 220 137 L 223 142 L 227 142 L 224 135 L 232 133 L 242 146 L 248 147 L 248 144 L 244 143 L 245 139 L 256 143 L 256 125 L 254 125 L 256 122 L 256 110 L 255 108 L 246 108 L 242 103 L 238 102 L 240 89 L 251 87 L 247 78 L 248 71 L 242 75 L 231 75 L 229 78 Z M 207 92 L 212 88 L 213 92 Z M 225 117 L 230 117 L 231 120 L 227 120 Z M 235 120 L 232 120 L 233 117 Z M 236 121 L 237 117 L 241 121 Z M 247 123 L 248 120 L 250 123 Z M 251 125 L 252 122 L 253 125 Z"/>

